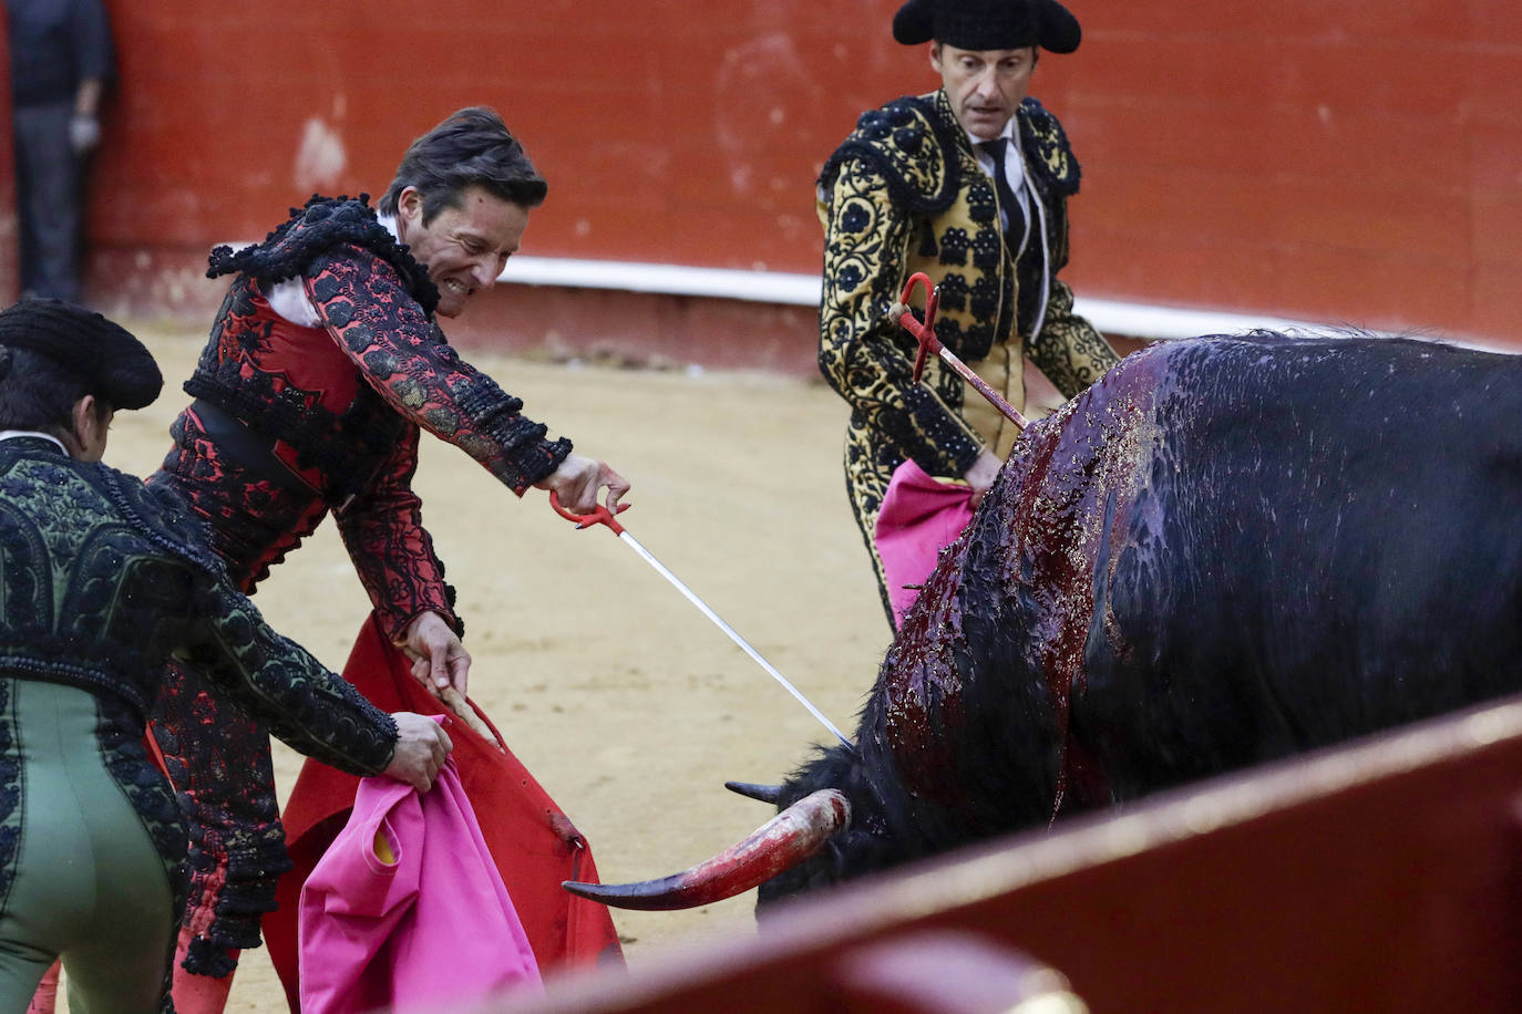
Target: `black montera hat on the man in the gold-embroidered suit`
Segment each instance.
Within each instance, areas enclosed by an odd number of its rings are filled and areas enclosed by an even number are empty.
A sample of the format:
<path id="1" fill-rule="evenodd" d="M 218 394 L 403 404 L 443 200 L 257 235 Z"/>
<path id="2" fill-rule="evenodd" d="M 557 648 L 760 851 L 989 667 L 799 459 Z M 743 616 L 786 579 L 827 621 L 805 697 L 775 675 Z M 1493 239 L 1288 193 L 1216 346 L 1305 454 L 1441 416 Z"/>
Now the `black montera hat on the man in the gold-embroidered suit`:
<path id="1" fill-rule="evenodd" d="M 935 40 L 957 49 L 1078 49 L 1078 18 L 1056 0 L 909 0 L 893 15 L 904 46 Z"/>

